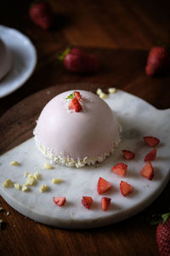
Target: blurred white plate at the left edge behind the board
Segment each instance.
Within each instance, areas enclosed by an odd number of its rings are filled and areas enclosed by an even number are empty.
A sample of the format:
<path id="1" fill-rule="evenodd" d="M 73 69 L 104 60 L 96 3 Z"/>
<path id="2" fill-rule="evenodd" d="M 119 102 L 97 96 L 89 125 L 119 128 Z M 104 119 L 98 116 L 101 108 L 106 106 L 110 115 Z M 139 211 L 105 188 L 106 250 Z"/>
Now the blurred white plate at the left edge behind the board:
<path id="1" fill-rule="evenodd" d="M 10 50 L 13 66 L 0 81 L 0 98 L 17 90 L 30 78 L 37 63 L 37 53 L 31 40 L 7 26 L 0 26 L 0 38 Z"/>

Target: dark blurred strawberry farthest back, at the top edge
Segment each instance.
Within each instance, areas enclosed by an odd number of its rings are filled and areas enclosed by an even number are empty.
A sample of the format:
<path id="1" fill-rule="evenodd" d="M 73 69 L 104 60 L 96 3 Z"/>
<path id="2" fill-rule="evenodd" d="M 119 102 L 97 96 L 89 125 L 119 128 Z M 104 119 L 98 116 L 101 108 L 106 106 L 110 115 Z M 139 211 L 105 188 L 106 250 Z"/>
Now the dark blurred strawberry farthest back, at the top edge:
<path id="1" fill-rule="evenodd" d="M 53 13 L 48 3 L 42 1 L 33 3 L 29 15 L 31 20 L 44 30 L 48 30 L 52 26 Z"/>

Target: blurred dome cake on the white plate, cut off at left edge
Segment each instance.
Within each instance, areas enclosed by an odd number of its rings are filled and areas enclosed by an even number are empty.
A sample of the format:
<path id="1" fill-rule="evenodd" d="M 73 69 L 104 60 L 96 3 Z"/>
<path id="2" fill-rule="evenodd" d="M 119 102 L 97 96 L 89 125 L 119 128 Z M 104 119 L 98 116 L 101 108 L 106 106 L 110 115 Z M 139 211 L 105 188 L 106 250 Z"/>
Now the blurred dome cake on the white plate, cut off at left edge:
<path id="1" fill-rule="evenodd" d="M 6 45 L 0 39 L 0 79 L 9 72 L 12 67 L 12 57 Z"/>

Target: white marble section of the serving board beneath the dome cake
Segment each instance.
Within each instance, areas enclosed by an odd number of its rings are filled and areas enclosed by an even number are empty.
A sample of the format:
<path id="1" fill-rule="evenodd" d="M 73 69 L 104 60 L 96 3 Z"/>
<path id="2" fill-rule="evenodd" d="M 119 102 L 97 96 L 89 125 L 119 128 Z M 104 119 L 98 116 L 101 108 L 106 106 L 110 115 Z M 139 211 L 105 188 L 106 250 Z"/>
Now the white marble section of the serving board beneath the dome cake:
<path id="1" fill-rule="evenodd" d="M 53 170 L 43 170 L 42 166 L 48 160 L 37 150 L 31 138 L 0 157 L 0 194 L 10 206 L 43 224 L 86 229 L 129 218 L 160 195 L 170 177 L 170 109 L 158 110 L 122 90 L 118 90 L 106 102 L 116 112 L 122 125 L 122 143 L 116 148 L 115 154 L 97 167 L 76 169 L 55 164 Z M 145 165 L 144 155 L 151 150 L 144 143 L 144 136 L 154 136 L 161 140 L 156 147 L 156 160 L 152 162 L 155 175 L 151 181 L 140 175 Z M 135 152 L 135 158 L 124 160 L 122 149 Z M 10 166 L 12 160 L 18 160 L 20 166 Z M 128 166 L 126 177 L 111 172 L 111 167 L 119 162 Z M 26 183 L 25 172 L 40 172 L 42 175 L 42 179 L 31 187 L 30 192 L 3 188 L 2 183 L 6 178 L 11 178 L 14 183 Z M 60 177 L 63 183 L 52 184 L 54 177 Z M 104 177 L 113 185 L 113 189 L 104 195 L 97 193 L 99 177 Z M 119 188 L 121 180 L 133 185 L 132 195 L 122 196 Z M 42 184 L 48 184 L 47 193 L 39 192 Z M 82 195 L 93 197 L 94 204 L 90 210 L 82 206 Z M 65 205 L 57 207 L 53 196 L 65 196 Z M 101 209 L 102 196 L 111 197 L 111 206 L 107 212 Z"/>

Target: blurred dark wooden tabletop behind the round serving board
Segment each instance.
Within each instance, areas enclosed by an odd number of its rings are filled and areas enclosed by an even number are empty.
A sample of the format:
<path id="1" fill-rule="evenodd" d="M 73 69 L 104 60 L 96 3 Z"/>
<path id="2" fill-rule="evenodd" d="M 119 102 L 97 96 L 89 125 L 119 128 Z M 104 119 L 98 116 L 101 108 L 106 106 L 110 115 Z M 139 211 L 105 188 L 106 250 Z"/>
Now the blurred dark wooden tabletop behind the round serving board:
<path id="1" fill-rule="evenodd" d="M 160 78 L 150 79 L 144 66 L 151 47 L 170 42 L 169 1 L 47 2 L 54 13 L 53 26 L 48 30 L 30 19 L 32 1 L 1 3 L 0 24 L 31 39 L 37 49 L 37 67 L 23 87 L 1 100 L 0 113 L 38 90 L 80 81 L 114 85 L 143 97 L 156 108 L 168 107 L 169 78 L 161 77 L 161 83 Z M 89 76 L 65 71 L 57 55 L 70 45 L 95 55 L 99 73 Z"/>

